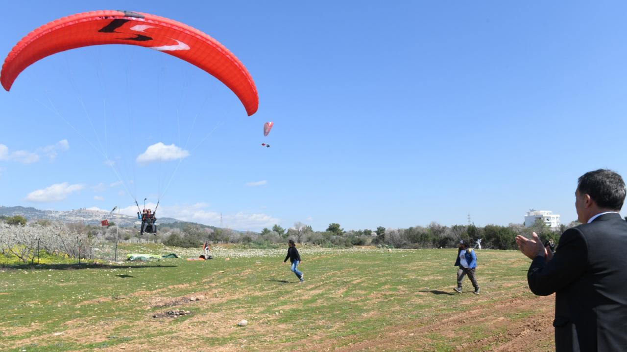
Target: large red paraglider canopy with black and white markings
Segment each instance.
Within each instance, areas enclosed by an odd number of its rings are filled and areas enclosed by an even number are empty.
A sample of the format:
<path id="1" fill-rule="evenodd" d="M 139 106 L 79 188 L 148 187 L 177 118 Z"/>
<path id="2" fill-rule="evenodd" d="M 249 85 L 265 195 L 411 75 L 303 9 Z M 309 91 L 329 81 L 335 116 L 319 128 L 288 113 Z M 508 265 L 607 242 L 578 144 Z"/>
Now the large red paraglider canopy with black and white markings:
<path id="1" fill-rule="evenodd" d="M 240 98 L 248 115 L 258 108 L 255 82 L 236 56 L 216 39 L 172 19 L 131 11 L 91 11 L 35 29 L 11 50 L 0 73 L 10 90 L 31 64 L 61 51 L 100 44 L 130 44 L 163 51 L 215 76 Z"/>

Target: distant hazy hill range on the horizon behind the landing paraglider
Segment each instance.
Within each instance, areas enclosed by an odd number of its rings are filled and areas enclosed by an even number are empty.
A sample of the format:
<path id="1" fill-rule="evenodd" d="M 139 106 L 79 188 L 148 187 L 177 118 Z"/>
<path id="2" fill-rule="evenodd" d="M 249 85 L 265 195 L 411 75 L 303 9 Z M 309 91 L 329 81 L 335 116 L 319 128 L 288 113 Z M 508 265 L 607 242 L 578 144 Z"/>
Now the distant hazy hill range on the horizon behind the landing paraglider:
<path id="1" fill-rule="evenodd" d="M 100 221 L 108 219 L 115 222 L 120 227 L 134 227 L 140 224 L 137 217 L 127 215 L 109 214 L 105 211 L 90 210 L 90 209 L 75 209 L 67 211 L 56 210 L 40 210 L 33 207 L 3 207 L 0 205 L 0 216 L 15 216 L 21 215 L 28 221 L 45 219 L 45 220 L 58 220 L 63 222 L 83 222 L 83 224 L 100 225 Z M 167 225 L 168 227 L 184 227 L 185 225 L 199 225 L 201 227 L 209 227 L 211 229 L 218 229 L 218 227 L 198 224 L 196 222 L 187 222 L 171 217 L 157 217 L 159 225 Z"/>

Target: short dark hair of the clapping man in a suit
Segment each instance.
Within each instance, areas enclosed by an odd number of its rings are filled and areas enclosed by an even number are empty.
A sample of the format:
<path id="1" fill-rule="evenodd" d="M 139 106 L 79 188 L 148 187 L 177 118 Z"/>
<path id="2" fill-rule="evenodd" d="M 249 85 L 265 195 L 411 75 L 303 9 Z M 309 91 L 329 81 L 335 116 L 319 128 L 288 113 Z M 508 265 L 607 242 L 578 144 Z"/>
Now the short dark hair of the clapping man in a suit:
<path id="1" fill-rule="evenodd" d="M 577 180 L 579 194 L 588 194 L 600 208 L 621 210 L 625 200 L 625 183 L 616 172 L 599 168 L 584 173 Z"/>

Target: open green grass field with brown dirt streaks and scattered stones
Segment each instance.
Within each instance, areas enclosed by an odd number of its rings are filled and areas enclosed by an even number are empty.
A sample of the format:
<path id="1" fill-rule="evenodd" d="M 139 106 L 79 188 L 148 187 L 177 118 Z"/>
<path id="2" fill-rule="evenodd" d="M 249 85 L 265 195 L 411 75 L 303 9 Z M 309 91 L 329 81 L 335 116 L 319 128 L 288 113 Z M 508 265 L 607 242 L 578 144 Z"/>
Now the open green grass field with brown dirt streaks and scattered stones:
<path id="1" fill-rule="evenodd" d="M 477 296 L 468 279 L 453 292 L 455 249 L 299 251 L 303 283 L 283 264 L 287 247 L 218 247 L 204 262 L 3 269 L 0 351 L 553 349 L 554 299 L 529 292 L 520 252 L 477 252 Z M 127 252 L 200 254 L 120 247 Z M 205 298 L 189 300 L 197 295 Z M 164 316 L 171 309 L 191 314 Z"/>

